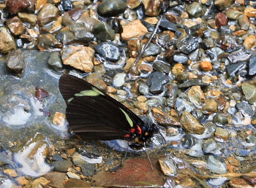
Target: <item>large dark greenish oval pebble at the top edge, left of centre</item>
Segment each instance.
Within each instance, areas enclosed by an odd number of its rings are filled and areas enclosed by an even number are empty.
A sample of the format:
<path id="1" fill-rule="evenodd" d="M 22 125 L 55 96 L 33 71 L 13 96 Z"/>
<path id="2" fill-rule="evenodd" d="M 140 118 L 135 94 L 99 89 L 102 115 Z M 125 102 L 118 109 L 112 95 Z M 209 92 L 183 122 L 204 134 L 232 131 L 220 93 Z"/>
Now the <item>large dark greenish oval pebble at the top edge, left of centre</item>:
<path id="1" fill-rule="evenodd" d="M 103 0 L 98 6 L 99 15 L 112 17 L 123 13 L 127 9 L 127 4 L 122 0 Z"/>

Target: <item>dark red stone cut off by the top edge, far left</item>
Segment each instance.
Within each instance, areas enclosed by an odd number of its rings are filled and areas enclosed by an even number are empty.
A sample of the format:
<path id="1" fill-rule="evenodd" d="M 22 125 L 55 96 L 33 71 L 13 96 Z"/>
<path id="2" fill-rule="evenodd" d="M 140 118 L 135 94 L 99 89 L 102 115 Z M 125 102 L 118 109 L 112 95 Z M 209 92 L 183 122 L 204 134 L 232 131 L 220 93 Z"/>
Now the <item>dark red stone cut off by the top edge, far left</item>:
<path id="1" fill-rule="evenodd" d="M 11 14 L 17 14 L 20 10 L 29 7 L 28 0 L 7 0 L 7 9 Z"/>

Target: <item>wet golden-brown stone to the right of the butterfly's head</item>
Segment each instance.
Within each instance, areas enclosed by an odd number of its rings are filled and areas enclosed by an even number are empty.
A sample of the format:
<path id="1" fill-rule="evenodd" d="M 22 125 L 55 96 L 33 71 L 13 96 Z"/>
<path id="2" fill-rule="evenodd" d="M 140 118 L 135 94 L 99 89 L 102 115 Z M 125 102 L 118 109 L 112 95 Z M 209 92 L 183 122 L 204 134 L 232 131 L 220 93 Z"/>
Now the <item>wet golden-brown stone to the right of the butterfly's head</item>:
<path id="1" fill-rule="evenodd" d="M 202 134 L 205 128 L 198 120 L 188 111 L 183 111 L 181 116 L 181 125 L 190 133 Z"/>

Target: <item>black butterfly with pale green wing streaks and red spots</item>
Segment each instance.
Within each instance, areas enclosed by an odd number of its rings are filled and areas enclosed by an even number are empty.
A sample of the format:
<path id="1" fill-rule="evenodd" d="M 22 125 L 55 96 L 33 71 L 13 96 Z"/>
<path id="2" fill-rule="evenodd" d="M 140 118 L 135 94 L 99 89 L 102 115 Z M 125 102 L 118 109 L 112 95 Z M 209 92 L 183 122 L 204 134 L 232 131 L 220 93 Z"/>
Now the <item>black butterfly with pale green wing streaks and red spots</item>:
<path id="1" fill-rule="evenodd" d="M 135 139 L 143 144 L 157 131 L 123 104 L 94 85 L 72 75 L 62 75 L 59 90 L 67 103 L 67 121 L 73 133 L 85 140 Z"/>

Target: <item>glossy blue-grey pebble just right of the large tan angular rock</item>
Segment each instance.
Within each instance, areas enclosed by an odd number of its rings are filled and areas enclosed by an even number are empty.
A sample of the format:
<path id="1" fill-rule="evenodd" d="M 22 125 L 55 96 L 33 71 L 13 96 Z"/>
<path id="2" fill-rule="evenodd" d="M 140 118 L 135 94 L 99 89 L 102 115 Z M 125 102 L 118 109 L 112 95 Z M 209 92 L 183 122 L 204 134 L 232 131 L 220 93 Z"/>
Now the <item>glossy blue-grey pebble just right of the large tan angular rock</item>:
<path id="1" fill-rule="evenodd" d="M 113 42 L 101 42 L 94 46 L 94 50 L 107 60 L 116 62 L 120 59 L 120 52 Z"/>

